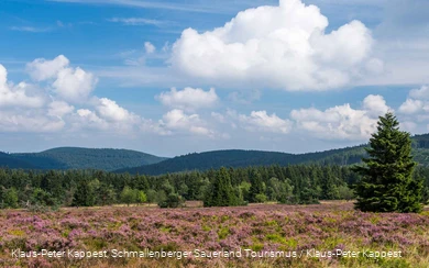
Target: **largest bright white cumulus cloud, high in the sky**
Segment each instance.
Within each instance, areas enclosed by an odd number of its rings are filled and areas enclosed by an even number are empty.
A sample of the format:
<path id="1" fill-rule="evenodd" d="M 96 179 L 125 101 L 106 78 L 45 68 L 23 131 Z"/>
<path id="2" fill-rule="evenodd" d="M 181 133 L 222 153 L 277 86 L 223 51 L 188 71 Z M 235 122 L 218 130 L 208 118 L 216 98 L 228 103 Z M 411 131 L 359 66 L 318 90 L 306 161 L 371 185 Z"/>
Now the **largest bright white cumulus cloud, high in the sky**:
<path id="1" fill-rule="evenodd" d="M 371 57 L 374 42 L 362 22 L 330 33 L 327 26 L 316 5 L 280 0 L 278 7 L 242 11 L 212 31 L 185 30 L 170 60 L 189 77 L 286 90 L 338 88 L 380 71 L 382 62 Z"/>

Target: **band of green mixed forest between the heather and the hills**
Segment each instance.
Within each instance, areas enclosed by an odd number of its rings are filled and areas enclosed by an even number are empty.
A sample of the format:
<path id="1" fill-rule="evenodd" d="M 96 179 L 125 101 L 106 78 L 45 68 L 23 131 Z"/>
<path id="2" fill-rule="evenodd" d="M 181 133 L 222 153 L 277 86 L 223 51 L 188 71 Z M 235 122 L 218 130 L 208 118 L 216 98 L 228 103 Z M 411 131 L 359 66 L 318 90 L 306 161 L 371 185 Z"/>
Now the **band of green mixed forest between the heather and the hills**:
<path id="1" fill-rule="evenodd" d="M 429 186 L 429 168 L 418 168 L 415 175 Z M 352 199 L 351 186 L 358 179 L 349 167 L 337 165 L 220 168 L 162 176 L 0 169 L 0 205 L 58 208 L 151 202 L 174 208 L 185 200 L 202 200 L 206 206 L 265 201 L 304 204 Z"/>

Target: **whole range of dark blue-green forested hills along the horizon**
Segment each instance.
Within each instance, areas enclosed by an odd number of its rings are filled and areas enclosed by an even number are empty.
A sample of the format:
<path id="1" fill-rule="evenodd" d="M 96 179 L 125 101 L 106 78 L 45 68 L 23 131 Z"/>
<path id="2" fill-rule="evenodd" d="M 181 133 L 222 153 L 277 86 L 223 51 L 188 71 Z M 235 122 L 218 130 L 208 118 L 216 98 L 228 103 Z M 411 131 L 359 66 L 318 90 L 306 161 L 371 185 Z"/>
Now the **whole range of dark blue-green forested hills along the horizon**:
<path id="1" fill-rule="evenodd" d="M 429 165 L 429 134 L 413 138 L 413 155 L 420 165 Z M 41 153 L 0 152 L 0 167 L 23 169 L 99 169 L 114 172 L 162 175 L 219 167 L 321 164 L 353 165 L 366 155 L 366 145 L 307 154 L 226 149 L 194 153 L 174 158 L 158 157 L 131 149 L 58 147 Z"/>

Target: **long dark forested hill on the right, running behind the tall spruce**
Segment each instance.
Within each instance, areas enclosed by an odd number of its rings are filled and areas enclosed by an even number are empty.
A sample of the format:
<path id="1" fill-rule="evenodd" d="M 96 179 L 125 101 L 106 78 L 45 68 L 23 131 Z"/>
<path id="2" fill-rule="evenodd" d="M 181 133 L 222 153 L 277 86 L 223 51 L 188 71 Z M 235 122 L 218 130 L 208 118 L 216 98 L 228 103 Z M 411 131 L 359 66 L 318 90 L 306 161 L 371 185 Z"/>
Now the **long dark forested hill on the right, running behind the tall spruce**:
<path id="1" fill-rule="evenodd" d="M 260 150 L 215 150 L 206 153 L 194 153 L 177 156 L 154 165 L 146 165 L 134 168 L 119 169 L 116 172 L 162 175 L 167 172 L 179 172 L 187 170 L 207 170 L 210 168 L 224 167 L 249 167 L 267 165 L 293 165 L 305 163 L 318 163 L 323 165 L 352 165 L 361 161 L 366 156 L 366 145 L 330 149 L 307 154 L 286 154 L 277 152 Z M 421 165 L 429 165 L 429 134 L 416 135 L 413 137 L 413 154 L 415 160 Z"/>

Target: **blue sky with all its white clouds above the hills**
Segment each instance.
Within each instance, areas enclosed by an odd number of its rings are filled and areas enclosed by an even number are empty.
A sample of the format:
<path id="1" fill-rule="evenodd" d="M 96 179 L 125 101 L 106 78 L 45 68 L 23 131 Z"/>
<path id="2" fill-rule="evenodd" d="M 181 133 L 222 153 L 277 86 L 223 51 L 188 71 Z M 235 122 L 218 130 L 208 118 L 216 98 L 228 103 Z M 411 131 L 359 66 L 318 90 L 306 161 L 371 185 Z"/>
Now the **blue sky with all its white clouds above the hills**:
<path id="1" fill-rule="evenodd" d="M 374 3 L 375 2 L 375 3 Z M 0 148 L 315 152 L 429 124 L 425 0 L 4 0 Z"/>

